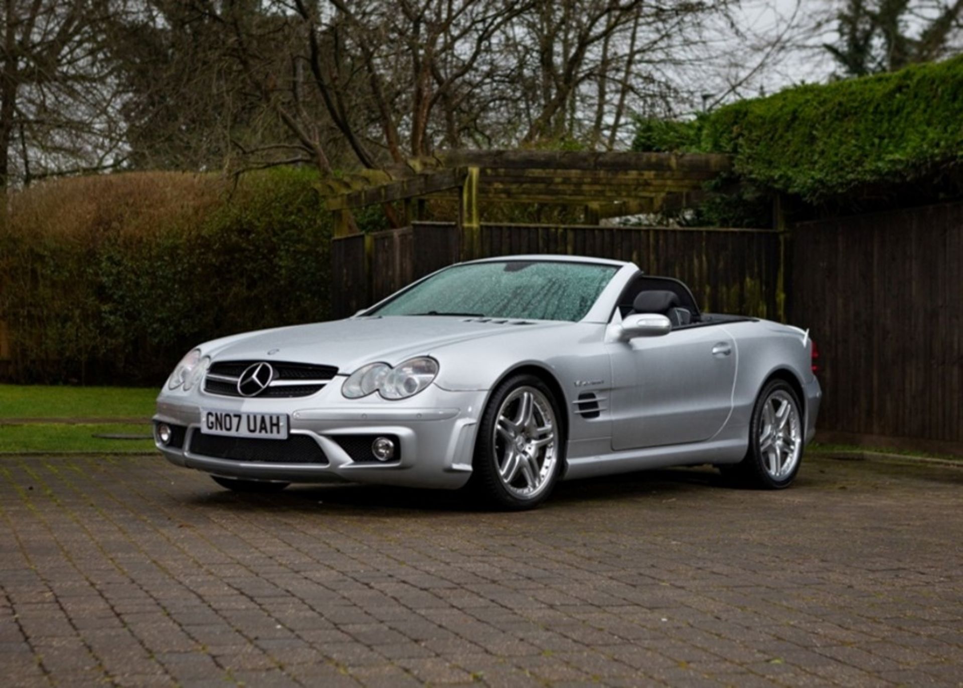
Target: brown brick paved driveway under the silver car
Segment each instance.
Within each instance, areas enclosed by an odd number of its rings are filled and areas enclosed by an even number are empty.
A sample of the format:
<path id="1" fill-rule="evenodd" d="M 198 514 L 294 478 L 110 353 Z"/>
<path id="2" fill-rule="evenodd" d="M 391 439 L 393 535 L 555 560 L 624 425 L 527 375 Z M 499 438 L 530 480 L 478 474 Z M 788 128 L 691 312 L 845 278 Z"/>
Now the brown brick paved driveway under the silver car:
<path id="1" fill-rule="evenodd" d="M 0 683 L 960 685 L 963 471 L 563 484 L 526 514 L 0 459 Z"/>

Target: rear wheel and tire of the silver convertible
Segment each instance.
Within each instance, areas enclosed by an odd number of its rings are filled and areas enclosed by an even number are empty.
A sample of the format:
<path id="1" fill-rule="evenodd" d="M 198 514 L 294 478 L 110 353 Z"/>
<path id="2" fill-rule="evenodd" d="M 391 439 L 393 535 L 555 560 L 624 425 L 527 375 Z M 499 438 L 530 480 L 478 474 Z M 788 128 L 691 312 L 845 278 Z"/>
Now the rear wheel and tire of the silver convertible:
<path id="1" fill-rule="evenodd" d="M 771 380 L 752 407 L 745 457 L 719 468 L 745 487 L 782 490 L 799 471 L 805 434 L 802 405 L 794 389 L 783 380 Z"/>

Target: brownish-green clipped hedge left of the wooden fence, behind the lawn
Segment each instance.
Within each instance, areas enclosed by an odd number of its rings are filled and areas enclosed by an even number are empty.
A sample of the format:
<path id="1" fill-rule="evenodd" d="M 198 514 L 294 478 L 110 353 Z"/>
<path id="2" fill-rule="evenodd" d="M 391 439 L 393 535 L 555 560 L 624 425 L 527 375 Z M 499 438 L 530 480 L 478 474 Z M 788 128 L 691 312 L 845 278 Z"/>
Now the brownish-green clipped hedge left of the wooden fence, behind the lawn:
<path id="1" fill-rule="evenodd" d="M 11 379 L 157 384 L 191 346 L 325 319 L 316 176 L 130 173 L 14 194 L 0 235 Z"/>

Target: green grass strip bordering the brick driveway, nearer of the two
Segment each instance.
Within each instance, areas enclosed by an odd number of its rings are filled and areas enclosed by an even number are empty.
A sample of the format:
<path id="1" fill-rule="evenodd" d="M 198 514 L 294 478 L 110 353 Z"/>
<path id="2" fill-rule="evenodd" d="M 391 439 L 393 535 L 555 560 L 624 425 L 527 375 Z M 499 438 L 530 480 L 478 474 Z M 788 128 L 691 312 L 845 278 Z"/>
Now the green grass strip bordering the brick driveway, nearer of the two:
<path id="1" fill-rule="evenodd" d="M 0 453 L 23 451 L 148 451 L 153 440 L 103 440 L 95 434 L 149 435 L 150 424 L 106 423 L 67 425 L 29 423 L 0 425 Z"/>

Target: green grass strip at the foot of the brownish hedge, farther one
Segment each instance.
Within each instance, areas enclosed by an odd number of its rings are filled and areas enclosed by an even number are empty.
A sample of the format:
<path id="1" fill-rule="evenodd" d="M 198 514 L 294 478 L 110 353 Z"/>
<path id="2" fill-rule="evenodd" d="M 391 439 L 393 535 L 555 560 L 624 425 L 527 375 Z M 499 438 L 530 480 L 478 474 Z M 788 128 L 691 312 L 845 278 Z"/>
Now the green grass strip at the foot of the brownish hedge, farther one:
<path id="1" fill-rule="evenodd" d="M 0 385 L 0 419 L 150 418 L 153 387 L 48 387 Z"/>

